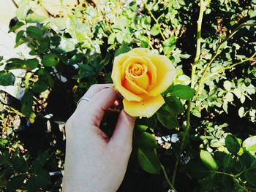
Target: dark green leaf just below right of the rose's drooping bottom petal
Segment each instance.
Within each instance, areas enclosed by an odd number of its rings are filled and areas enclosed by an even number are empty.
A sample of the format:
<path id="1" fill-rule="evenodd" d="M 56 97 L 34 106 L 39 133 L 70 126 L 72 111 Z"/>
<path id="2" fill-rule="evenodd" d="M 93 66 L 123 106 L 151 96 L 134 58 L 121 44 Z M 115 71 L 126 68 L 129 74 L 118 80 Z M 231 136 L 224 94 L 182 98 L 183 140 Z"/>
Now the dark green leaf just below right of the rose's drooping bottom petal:
<path id="1" fill-rule="evenodd" d="M 176 128 L 176 126 L 178 126 L 178 121 L 177 121 L 177 117 L 175 114 L 173 114 L 171 112 L 167 112 L 165 110 L 159 110 L 156 113 L 156 115 L 157 115 L 157 119 L 159 120 L 159 122 L 165 128 L 173 129 L 173 128 Z"/>

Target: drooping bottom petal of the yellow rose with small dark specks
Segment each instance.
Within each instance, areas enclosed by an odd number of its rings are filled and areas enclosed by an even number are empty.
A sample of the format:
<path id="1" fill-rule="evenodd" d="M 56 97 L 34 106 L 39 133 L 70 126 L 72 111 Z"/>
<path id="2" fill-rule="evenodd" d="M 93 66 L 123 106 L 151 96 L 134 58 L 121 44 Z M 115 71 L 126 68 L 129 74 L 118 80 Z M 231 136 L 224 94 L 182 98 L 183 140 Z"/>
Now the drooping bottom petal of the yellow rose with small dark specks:
<path id="1" fill-rule="evenodd" d="M 143 101 L 127 101 L 123 100 L 124 111 L 127 112 L 132 117 L 147 117 L 150 118 L 154 115 L 163 104 L 165 100 L 161 95 L 158 96 L 146 96 L 143 97 Z"/>

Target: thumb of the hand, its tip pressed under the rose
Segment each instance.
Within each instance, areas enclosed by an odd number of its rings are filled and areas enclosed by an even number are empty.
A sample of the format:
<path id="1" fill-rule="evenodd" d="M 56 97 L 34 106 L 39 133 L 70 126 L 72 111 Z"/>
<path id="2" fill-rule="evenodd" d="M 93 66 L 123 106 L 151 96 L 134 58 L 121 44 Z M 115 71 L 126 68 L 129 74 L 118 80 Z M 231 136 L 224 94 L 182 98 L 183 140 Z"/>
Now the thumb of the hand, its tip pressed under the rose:
<path id="1" fill-rule="evenodd" d="M 121 147 L 132 147 L 132 133 L 134 126 L 135 118 L 132 118 L 124 112 L 124 110 L 121 110 L 110 143 L 112 142 Z"/>

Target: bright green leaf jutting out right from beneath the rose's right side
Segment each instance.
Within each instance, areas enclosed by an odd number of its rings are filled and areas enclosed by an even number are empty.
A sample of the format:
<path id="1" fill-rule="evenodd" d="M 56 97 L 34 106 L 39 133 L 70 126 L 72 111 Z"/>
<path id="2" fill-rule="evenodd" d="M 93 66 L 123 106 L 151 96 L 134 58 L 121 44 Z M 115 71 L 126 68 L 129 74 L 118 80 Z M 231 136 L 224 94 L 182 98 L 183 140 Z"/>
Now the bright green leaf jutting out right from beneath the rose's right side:
<path id="1" fill-rule="evenodd" d="M 192 99 L 195 95 L 195 89 L 190 88 L 188 85 L 174 85 L 172 91 L 170 91 L 171 96 L 176 96 L 180 99 Z"/>

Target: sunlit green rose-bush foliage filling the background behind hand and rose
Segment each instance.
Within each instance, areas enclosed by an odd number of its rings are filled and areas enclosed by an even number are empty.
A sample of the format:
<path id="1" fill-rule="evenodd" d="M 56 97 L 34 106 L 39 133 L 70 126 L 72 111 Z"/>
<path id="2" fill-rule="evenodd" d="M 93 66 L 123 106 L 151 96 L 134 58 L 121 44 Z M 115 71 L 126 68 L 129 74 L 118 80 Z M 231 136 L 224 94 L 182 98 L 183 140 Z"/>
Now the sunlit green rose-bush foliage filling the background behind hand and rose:
<path id="1" fill-rule="evenodd" d="M 53 14 L 45 3 L 20 1 L 10 32 L 31 58 L 0 58 L 0 85 L 21 82 L 24 91 L 12 102 L 1 93 L 0 188 L 57 191 L 64 122 L 75 103 L 92 84 L 111 82 L 116 55 L 148 47 L 167 55 L 178 74 L 163 93 L 165 105 L 136 122 L 120 191 L 126 183 L 129 191 L 256 190 L 256 1 L 80 1 L 55 8 Z M 13 69 L 26 74 L 15 77 Z M 102 128 L 114 123 L 106 119 Z M 143 187 L 131 184 L 134 177 L 143 177 Z"/>

